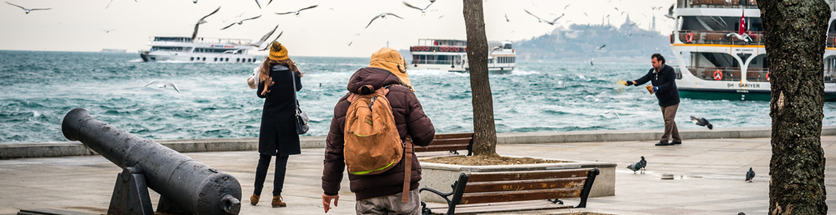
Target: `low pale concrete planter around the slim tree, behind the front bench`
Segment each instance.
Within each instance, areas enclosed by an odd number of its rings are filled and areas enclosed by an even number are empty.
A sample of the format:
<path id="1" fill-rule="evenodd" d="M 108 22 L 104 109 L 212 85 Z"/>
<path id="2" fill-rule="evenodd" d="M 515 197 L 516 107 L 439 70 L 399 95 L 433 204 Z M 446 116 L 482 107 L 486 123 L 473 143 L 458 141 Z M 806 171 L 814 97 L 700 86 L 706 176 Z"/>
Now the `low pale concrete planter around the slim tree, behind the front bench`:
<path id="1" fill-rule="evenodd" d="M 514 156 L 506 156 L 514 157 Z M 554 160 L 540 158 L 544 160 Z M 425 162 L 421 162 L 421 187 L 429 187 L 441 192 L 451 192 L 453 189 L 451 185 L 459 178 L 460 173 L 474 173 L 474 172 L 508 172 L 508 171 L 532 171 L 532 170 L 558 170 L 558 169 L 580 169 L 580 168 L 598 168 L 601 174 L 595 178 L 595 183 L 592 184 L 592 190 L 589 197 L 599 196 L 614 196 L 615 195 L 615 166 L 614 163 L 594 162 L 594 161 L 572 161 L 562 160 L 564 163 L 547 163 L 547 164 L 524 164 L 524 165 L 494 165 L 494 166 L 463 166 Z M 446 203 L 443 198 L 438 195 L 423 192 L 421 200 L 427 202 Z"/>

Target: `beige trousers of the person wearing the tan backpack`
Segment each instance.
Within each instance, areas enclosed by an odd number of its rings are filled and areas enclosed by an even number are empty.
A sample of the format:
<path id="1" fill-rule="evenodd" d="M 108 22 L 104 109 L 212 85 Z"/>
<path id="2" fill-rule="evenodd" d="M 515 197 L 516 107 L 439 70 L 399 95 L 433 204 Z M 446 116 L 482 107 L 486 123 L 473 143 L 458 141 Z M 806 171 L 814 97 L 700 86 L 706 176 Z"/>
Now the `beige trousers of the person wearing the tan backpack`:
<path id="1" fill-rule="evenodd" d="M 403 203 L 401 198 L 403 198 L 403 192 L 359 200 L 354 205 L 354 210 L 357 214 L 421 214 L 421 197 L 418 196 L 418 189 L 409 191 L 409 202 Z"/>

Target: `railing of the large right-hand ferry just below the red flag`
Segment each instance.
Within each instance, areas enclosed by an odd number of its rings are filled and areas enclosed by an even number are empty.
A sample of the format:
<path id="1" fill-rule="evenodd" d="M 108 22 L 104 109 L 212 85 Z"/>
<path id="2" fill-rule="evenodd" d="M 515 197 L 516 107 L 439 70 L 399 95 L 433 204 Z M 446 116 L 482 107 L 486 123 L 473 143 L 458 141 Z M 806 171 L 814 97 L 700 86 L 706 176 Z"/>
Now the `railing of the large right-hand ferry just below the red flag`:
<path id="1" fill-rule="evenodd" d="M 736 31 L 677 31 L 679 41 L 686 44 L 763 45 L 763 31 L 747 31 L 750 41 L 744 42 L 730 33 Z M 728 35 L 728 36 L 727 36 Z M 674 41 L 671 41 L 673 43 Z"/>

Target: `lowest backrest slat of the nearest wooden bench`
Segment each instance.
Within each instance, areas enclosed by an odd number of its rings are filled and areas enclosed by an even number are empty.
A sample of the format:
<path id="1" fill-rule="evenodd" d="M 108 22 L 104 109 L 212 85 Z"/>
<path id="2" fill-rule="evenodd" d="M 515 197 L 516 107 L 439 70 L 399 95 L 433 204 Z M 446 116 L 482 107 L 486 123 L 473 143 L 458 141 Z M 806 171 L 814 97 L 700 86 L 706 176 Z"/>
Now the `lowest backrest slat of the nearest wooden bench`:
<path id="1" fill-rule="evenodd" d="M 486 202 L 510 202 L 537 199 L 556 199 L 580 197 L 581 189 L 556 188 L 542 190 L 520 190 L 505 192 L 465 193 L 460 204 Z"/>

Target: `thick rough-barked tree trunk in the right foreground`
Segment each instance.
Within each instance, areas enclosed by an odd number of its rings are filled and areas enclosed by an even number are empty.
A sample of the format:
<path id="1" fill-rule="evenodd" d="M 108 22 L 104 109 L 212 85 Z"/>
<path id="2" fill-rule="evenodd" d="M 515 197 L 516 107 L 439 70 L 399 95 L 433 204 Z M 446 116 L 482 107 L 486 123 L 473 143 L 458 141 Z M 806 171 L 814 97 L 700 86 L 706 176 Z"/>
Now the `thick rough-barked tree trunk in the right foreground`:
<path id="1" fill-rule="evenodd" d="M 758 0 L 772 100 L 769 214 L 827 214 L 824 57 L 830 7 L 823 0 Z"/>

